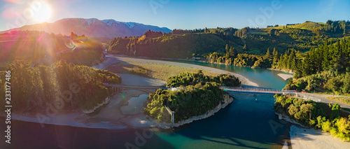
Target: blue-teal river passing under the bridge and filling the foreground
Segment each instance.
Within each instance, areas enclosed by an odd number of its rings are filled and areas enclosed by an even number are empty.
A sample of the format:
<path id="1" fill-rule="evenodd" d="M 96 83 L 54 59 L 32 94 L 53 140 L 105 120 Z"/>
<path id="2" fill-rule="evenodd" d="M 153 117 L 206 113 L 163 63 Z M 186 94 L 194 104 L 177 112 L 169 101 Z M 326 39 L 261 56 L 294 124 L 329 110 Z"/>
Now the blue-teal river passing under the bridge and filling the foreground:
<path id="1" fill-rule="evenodd" d="M 192 63 L 232 71 L 261 87 L 281 89 L 279 71 Z M 271 95 L 238 94 L 239 99 L 214 116 L 174 130 L 90 129 L 13 120 L 12 144 L 0 148 L 282 148 L 289 123 L 274 114 Z M 6 127 L 0 120 L 0 127 Z M 288 143 L 290 144 L 290 143 Z M 290 145 L 289 145 L 290 146 Z"/>

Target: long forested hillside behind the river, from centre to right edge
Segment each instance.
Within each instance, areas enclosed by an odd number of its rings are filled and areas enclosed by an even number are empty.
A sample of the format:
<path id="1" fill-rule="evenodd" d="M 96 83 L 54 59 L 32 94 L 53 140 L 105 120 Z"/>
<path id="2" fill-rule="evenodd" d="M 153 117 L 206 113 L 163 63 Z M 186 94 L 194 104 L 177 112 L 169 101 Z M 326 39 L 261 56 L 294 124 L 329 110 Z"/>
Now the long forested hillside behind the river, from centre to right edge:
<path id="1" fill-rule="evenodd" d="M 206 57 L 216 52 L 218 57 L 223 57 L 228 50 L 226 48 L 228 45 L 229 48 L 235 48 L 238 53 L 255 55 L 253 57 L 257 57 L 256 61 L 259 55 L 267 52 L 267 49 L 275 48 L 279 53 L 290 49 L 306 52 L 311 48 L 316 48 L 326 39 L 336 41 L 336 38 L 349 36 L 349 32 L 349 21 L 331 20 L 326 23 L 304 22 L 303 24 L 264 29 L 249 27 L 243 29 L 220 27 L 194 30 L 174 29 L 169 34 L 147 31 L 141 37 L 114 38 L 110 43 L 109 52 L 130 56 L 183 59 L 193 56 Z M 241 57 L 248 58 L 242 55 Z M 215 59 L 214 62 L 225 62 L 225 59 Z M 253 66 L 253 64 L 248 66 Z"/>

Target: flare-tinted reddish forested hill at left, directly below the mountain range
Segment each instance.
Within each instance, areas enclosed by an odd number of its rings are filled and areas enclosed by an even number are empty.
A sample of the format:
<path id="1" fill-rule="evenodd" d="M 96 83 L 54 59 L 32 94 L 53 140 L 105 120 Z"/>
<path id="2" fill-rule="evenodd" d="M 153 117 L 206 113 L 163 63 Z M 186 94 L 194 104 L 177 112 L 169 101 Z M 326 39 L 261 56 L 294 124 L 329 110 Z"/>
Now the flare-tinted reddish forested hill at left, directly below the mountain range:
<path id="1" fill-rule="evenodd" d="M 35 63 L 47 59 L 43 63 L 50 65 L 64 59 L 92 66 L 103 56 L 101 43 L 73 33 L 64 36 L 44 31 L 10 31 L 0 34 L 0 41 L 0 62 L 17 59 Z"/>

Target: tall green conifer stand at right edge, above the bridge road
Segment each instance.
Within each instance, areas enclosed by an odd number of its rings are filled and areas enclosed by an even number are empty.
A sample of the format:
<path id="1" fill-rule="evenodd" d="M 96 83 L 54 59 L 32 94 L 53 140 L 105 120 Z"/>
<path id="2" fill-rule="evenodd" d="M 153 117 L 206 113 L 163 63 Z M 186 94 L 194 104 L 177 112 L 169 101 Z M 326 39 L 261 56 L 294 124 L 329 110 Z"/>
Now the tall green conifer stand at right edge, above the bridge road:
<path id="1" fill-rule="evenodd" d="M 298 60 L 295 74 L 286 85 L 287 90 L 329 90 L 350 93 L 350 43 L 325 41 Z"/>

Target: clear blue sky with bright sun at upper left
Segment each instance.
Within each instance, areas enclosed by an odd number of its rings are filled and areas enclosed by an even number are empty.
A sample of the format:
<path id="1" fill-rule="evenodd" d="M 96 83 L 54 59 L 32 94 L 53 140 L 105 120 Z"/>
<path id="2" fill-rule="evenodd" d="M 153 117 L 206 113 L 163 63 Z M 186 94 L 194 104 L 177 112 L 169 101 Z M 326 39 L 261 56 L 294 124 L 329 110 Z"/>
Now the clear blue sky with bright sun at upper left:
<path id="1" fill-rule="evenodd" d="M 67 17 L 169 29 L 266 27 L 350 20 L 349 0 L 0 0 L 0 31 Z"/>

